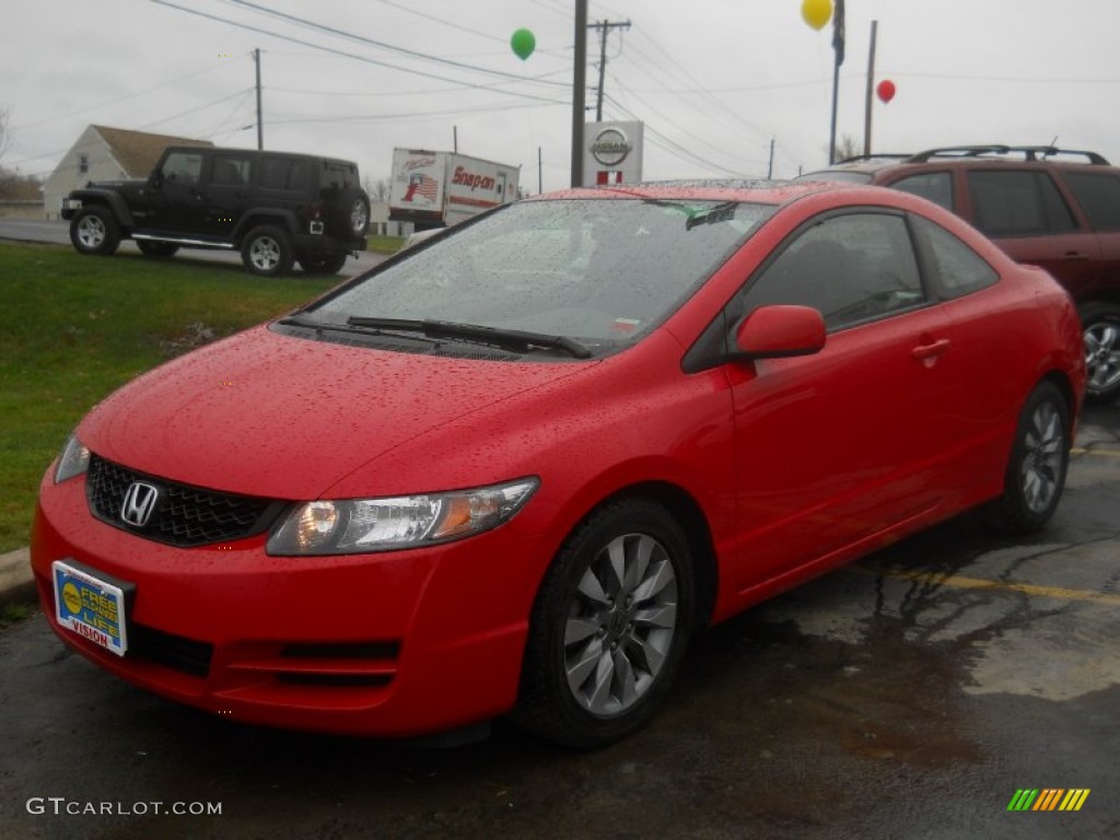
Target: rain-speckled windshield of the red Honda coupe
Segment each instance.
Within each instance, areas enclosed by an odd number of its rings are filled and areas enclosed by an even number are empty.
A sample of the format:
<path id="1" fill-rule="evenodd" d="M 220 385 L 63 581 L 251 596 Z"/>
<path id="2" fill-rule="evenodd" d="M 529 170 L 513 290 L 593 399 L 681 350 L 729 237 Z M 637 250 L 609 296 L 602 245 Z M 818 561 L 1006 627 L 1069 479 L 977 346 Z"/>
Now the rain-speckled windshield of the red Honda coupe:
<path id="1" fill-rule="evenodd" d="M 664 320 L 774 211 L 522 202 L 410 250 L 310 312 L 327 324 L 440 321 L 564 336 L 592 349 L 625 344 Z"/>

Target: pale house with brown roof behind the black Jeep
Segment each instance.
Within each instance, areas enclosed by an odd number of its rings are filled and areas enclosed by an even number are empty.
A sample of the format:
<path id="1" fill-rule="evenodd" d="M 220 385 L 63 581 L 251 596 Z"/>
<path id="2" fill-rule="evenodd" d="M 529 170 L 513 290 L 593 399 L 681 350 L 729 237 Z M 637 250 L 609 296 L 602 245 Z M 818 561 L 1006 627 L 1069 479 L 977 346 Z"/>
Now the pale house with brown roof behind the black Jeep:
<path id="1" fill-rule="evenodd" d="M 169 134 L 87 125 L 47 178 L 43 189 L 47 218 L 58 218 L 63 198 L 91 180 L 147 178 L 168 146 L 213 146 Z"/>

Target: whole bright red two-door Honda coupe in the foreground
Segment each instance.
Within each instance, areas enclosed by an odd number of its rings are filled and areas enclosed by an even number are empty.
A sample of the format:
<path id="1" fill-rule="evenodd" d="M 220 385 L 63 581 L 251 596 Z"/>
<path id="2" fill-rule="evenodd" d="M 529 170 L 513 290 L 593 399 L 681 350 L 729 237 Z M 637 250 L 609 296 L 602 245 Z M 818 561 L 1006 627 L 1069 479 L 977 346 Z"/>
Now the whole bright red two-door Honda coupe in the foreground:
<path id="1" fill-rule="evenodd" d="M 523 200 L 124 386 L 44 477 L 52 627 L 234 720 L 607 744 L 701 627 L 1054 513 L 1077 314 L 877 187 Z"/>

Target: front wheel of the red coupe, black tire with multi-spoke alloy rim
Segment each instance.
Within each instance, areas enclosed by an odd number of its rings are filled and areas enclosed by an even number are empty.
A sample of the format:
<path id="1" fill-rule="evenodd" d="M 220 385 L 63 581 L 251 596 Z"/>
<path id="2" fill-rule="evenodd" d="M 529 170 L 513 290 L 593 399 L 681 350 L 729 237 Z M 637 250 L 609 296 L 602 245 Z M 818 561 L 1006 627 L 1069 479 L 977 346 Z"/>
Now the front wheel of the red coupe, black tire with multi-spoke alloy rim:
<path id="1" fill-rule="evenodd" d="M 624 562 L 623 580 L 612 558 Z M 600 747 L 664 703 L 692 635 L 693 560 L 660 504 L 606 504 L 568 538 L 530 622 L 513 722 L 566 746 Z"/>

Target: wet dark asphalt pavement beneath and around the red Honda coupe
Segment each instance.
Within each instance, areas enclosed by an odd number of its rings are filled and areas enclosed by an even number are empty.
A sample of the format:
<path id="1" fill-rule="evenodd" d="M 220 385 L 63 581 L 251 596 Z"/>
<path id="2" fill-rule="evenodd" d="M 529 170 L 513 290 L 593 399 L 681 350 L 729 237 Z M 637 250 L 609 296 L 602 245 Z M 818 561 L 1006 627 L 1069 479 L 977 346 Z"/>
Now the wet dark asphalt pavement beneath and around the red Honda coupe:
<path id="1" fill-rule="evenodd" d="M 0 631 L 0 838 L 1120 837 L 1120 407 L 1085 418 L 1042 534 L 964 516 L 720 625 L 599 752 L 244 727 L 39 615 Z M 1008 811 L 1020 788 L 1090 793 Z"/>

